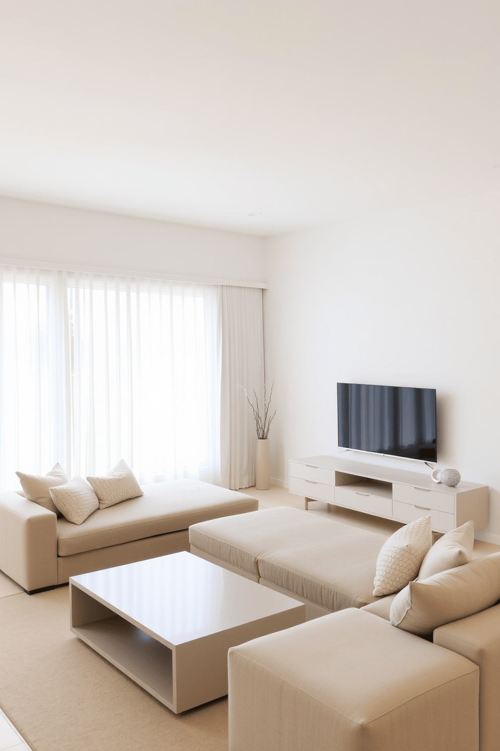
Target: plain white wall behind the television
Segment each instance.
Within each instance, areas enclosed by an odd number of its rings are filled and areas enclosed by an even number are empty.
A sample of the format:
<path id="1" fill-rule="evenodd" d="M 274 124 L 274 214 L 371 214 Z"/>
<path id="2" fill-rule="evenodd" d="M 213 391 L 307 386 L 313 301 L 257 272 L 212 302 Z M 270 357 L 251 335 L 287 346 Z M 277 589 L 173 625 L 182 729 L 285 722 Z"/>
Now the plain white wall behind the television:
<path id="1" fill-rule="evenodd" d="M 436 388 L 439 465 L 490 485 L 500 543 L 499 216 L 495 193 L 265 241 L 277 481 L 336 453 L 337 382 Z"/>

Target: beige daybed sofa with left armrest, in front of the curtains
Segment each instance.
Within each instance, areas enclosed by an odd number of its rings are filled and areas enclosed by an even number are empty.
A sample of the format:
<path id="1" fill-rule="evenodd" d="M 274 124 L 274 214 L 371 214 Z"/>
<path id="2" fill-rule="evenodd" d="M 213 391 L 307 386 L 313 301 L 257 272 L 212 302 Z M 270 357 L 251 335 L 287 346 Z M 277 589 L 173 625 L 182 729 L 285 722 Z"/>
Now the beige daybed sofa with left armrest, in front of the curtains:
<path id="1" fill-rule="evenodd" d="M 0 570 L 32 593 L 76 574 L 188 550 L 190 524 L 259 505 L 244 493 L 195 480 L 142 490 L 142 496 L 94 511 L 82 524 L 17 492 L 0 493 Z"/>

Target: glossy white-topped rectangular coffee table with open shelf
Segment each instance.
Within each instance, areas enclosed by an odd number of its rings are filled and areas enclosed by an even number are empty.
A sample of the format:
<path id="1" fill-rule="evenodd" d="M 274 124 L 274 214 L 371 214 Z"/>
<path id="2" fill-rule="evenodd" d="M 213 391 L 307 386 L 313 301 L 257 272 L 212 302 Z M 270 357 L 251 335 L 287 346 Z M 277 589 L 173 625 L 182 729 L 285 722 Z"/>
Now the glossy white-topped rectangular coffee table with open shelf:
<path id="1" fill-rule="evenodd" d="M 70 629 L 175 713 L 227 693 L 227 650 L 305 605 L 190 553 L 70 578 Z"/>

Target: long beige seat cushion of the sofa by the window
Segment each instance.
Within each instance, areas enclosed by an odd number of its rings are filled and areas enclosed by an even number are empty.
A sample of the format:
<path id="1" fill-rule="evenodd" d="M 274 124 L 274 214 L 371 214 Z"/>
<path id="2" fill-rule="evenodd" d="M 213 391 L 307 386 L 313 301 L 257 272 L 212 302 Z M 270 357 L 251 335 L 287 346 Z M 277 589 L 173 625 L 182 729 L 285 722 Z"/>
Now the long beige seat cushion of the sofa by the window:
<path id="1" fill-rule="evenodd" d="M 258 501 L 234 490 L 198 480 L 143 485 L 143 496 L 100 508 L 79 526 L 57 522 L 58 555 L 70 556 L 153 535 L 187 529 L 205 519 L 242 514 Z"/>

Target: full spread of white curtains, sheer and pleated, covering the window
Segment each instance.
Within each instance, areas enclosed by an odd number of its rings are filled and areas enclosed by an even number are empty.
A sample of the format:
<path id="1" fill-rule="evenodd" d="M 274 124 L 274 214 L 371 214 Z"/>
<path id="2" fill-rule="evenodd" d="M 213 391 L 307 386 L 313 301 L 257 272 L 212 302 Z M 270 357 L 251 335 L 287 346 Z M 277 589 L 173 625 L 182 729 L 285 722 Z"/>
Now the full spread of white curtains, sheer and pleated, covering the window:
<path id="1" fill-rule="evenodd" d="M 253 484 L 262 290 L 0 266 L 0 490 L 16 470 Z"/>

